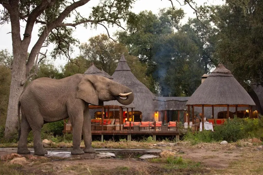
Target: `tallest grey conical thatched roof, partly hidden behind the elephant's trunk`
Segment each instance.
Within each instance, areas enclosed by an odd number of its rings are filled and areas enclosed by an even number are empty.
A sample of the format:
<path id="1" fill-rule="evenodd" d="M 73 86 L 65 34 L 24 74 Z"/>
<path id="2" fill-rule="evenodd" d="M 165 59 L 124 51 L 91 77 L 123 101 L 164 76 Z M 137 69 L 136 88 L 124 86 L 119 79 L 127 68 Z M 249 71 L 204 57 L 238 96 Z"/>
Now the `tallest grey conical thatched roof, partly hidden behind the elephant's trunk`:
<path id="1" fill-rule="evenodd" d="M 133 90 L 134 100 L 131 104 L 125 106 L 128 108 L 135 108 L 134 111 L 142 112 L 143 121 L 151 121 L 154 117 L 154 97 L 155 95 L 141 83 L 131 72 L 127 61 L 122 55 L 118 66 L 112 75 L 113 80 L 121 83 Z M 104 102 L 105 105 L 121 105 L 116 100 Z M 124 107 L 124 108 L 125 108 Z"/>

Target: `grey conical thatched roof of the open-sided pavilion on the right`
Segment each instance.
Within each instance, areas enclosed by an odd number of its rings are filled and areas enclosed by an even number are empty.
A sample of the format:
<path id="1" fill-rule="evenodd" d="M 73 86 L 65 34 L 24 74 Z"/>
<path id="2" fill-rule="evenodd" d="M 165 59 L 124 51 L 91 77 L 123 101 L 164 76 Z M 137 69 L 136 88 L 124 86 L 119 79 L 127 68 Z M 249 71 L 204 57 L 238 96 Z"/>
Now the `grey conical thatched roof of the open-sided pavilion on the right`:
<path id="1" fill-rule="evenodd" d="M 246 90 L 222 64 L 205 79 L 186 105 L 255 105 Z"/>

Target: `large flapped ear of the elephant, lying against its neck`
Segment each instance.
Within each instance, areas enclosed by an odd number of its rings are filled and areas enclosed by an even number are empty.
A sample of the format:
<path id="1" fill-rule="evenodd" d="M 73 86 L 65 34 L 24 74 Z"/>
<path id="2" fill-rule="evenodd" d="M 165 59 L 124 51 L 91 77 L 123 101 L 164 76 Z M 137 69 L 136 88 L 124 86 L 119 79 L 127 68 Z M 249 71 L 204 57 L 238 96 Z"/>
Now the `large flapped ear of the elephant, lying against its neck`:
<path id="1" fill-rule="evenodd" d="M 83 77 L 78 85 L 77 98 L 93 105 L 99 104 L 98 94 L 87 76 Z"/>

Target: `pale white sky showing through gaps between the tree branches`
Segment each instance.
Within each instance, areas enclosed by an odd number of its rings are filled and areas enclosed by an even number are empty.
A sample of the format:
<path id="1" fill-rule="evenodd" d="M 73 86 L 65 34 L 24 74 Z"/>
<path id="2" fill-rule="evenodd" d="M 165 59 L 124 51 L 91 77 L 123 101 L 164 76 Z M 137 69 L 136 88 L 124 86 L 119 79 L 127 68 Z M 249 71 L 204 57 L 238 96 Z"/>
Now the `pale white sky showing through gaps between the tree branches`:
<path id="1" fill-rule="evenodd" d="M 96 6 L 98 4 L 98 0 L 91 0 L 89 1 L 87 4 L 85 4 L 82 7 L 79 7 L 77 9 L 77 11 L 83 16 L 83 17 L 88 17 L 90 12 L 92 11 L 92 7 Z M 198 5 L 203 4 L 204 2 L 208 2 L 208 4 L 214 4 L 214 5 L 222 5 L 224 4 L 225 1 L 223 0 L 197 0 L 196 2 L 198 2 Z M 191 9 L 188 5 L 185 6 L 180 6 L 180 4 L 178 2 L 176 2 L 176 0 L 173 0 L 173 4 L 175 6 L 175 8 L 182 8 L 184 10 L 185 14 L 185 18 L 182 20 L 182 23 L 187 22 L 188 18 L 194 18 L 195 14 L 194 14 L 194 10 Z M 168 8 L 171 7 L 171 2 L 168 0 L 137 0 L 134 4 L 133 4 L 133 8 L 131 9 L 132 12 L 138 14 L 139 12 L 143 11 L 143 10 L 148 10 L 148 11 L 152 11 L 154 14 L 158 14 L 159 9 L 161 8 Z M 3 7 L 0 7 L 0 9 L 2 10 Z M 71 22 L 70 20 L 68 20 L 67 22 Z M 24 33 L 24 26 L 26 26 L 26 24 L 24 22 L 21 22 L 21 37 L 23 37 L 23 33 Z M 125 24 L 123 24 L 124 28 L 125 28 Z M 122 28 L 119 28 L 118 26 L 114 26 L 114 27 L 110 27 L 108 28 L 109 30 L 109 34 L 111 36 L 113 36 L 114 32 L 117 30 L 123 30 Z M 4 25 L 0 25 L 0 50 L 2 49 L 7 49 L 10 53 L 12 53 L 12 38 L 11 38 L 11 24 L 4 24 Z M 105 30 L 105 28 L 103 26 L 98 25 L 97 29 L 93 29 L 88 27 L 87 29 L 83 27 L 83 25 L 78 25 L 77 28 L 75 29 L 73 36 L 75 38 L 77 38 L 80 43 L 86 43 L 88 41 L 88 39 L 90 37 L 99 35 L 101 33 L 107 34 L 107 31 Z M 31 38 L 31 43 L 29 45 L 28 48 L 28 52 L 31 51 L 32 47 L 34 46 L 34 44 L 36 43 L 37 39 L 38 39 L 38 25 L 34 26 L 33 28 L 33 32 L 32 32 L 32 38 Z M 53 45 L 50 45 L 49 47 L 44 47 L 42 48 L 42 52 L 45 52 L 45 50 L 48 49 L 47 55 L 52 51 L 53 49 Z M 79 55 L 79 49 L 76 48 L 74 53 L 72 53 L 72 58 L 75 58 Z M 66 59 L 56 59 L 53 61 L 54 65 L 56 67 L 59 67 L 60 65 L 65 65 L 68 62 L 68 60 Z"/>

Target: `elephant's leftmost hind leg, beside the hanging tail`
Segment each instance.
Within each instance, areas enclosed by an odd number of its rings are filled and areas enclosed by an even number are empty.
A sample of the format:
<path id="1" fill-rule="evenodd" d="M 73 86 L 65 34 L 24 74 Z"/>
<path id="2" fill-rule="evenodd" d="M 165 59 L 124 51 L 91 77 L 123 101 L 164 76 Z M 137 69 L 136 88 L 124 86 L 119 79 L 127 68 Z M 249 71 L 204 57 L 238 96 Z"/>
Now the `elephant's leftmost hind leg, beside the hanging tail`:
<path id="1" fill-rule="evenodd" d="M 26 117 L 22 114 L 21 136 L 18 142 L 17 153 L 19 154 L 29 154 L 30 153 L 30 151 L 27 148 L 27 137 L 30 131 L 31 131 L 31 127 Z"/>

